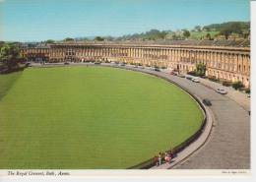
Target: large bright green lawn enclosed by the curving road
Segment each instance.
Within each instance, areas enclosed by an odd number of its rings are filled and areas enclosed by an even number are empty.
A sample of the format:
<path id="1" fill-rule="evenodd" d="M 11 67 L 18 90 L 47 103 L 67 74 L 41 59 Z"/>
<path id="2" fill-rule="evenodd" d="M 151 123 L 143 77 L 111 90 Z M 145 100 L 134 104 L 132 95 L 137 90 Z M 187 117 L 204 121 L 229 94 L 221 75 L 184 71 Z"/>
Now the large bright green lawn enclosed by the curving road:
<path id="1" fill-rule="evenodd" d="M 0 75 L 0 168 L 127 168 L 201 126 L 184 91 L 114 68 L 30 68 Z"/>

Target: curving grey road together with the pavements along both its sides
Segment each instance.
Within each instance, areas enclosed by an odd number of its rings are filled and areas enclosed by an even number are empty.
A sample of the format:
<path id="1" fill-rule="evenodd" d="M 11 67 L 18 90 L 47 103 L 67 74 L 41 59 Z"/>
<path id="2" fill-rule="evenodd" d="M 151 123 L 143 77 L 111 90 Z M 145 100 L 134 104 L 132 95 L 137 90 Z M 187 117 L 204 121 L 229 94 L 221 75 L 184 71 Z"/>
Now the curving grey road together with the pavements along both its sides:
<path id="1" fill-rule="evenodd" d="M 86 64 L 74 65 L 85 66 Z M 208 134 L 204 132 L 206 136 L 203 133 L 198 140 L 182 152 L 177 153 L 170 165 L 163 164 L 154 168 L 250 169 L 250 116 L 248 114 L 250 99 L 246 94 L 225 88 L 228 93 L 222 95 L 215 91 L 221 85 L 208 80 L 200 79 L 201 83 L 193 83 L 185 78 L 150 69 L 123 67 L 115 64 L 101 64 L 101 66 L 154 74 L 176 83 L 196 95 L 200 100 L 204 98 L 211 100 L 212 106 L 206 107 L 212 118 L 212 121 L 210 120 L 212 123 L 208 122 L 211 131 Z M 210 133 L 211 135 L 209 135 Z"/>

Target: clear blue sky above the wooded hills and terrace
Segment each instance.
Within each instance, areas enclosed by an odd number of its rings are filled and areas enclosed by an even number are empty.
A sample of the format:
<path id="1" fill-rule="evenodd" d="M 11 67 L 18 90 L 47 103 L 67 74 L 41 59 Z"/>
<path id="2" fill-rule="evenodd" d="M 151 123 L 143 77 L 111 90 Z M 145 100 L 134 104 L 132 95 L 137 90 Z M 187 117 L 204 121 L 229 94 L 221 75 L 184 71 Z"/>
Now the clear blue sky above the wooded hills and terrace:
<path id="1" fill-rule="evenodd" d="M 0 40 L 41 41 L 250 21 L 249 0 L 0 0 Z"/>

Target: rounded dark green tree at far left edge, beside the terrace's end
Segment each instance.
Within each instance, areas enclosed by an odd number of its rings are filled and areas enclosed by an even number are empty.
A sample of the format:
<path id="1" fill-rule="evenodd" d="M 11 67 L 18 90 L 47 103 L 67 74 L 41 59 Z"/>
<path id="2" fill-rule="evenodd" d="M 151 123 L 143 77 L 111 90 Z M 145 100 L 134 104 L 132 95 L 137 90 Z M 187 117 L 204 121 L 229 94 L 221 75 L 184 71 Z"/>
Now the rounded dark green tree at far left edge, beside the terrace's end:
<path id="1" fill-rule="evenodd" d="M 14 43 L 5 43 L 0 49 L 0 61 L 3 65 L 12 70 L 18 67 L 18 63 L 23 59 L 19 47 Z"/>

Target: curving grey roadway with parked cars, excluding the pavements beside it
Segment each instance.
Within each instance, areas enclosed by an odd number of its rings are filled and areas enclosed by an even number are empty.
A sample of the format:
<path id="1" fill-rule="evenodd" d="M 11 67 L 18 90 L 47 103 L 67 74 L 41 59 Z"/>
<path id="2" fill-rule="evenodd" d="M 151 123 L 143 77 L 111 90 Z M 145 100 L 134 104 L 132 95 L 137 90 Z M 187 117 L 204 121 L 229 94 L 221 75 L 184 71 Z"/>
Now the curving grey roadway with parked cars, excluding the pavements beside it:
<path id="1" fill-rule="evenodd" d="M 85 65 L 85 64 L 84 64 Z M 123 67 L 121 67 L 123 68 Z M 129 69 L 155 73 L 165 77 L 201 99 L 212 101 L 215 116 L 214 128 L 206 145 L 194 152 L 179 169 L 249 169 L 250 168 L 250 117 L 241 105 L 202 84 L 170 76 L 163 72 L 130 67 Z"/>

